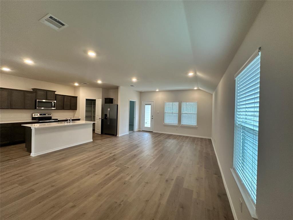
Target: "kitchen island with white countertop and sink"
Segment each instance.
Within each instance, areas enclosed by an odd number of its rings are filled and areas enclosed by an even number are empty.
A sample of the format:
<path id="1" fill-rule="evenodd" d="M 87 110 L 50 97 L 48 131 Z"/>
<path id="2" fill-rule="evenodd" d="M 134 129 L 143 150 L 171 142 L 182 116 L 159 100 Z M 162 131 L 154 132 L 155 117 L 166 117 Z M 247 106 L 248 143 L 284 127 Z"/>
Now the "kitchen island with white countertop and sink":
<path id="1" fill-rule="evenodd" d="M 31 156 L 93 141 L 93 121 L 23 124 L 25 147 Z"/>

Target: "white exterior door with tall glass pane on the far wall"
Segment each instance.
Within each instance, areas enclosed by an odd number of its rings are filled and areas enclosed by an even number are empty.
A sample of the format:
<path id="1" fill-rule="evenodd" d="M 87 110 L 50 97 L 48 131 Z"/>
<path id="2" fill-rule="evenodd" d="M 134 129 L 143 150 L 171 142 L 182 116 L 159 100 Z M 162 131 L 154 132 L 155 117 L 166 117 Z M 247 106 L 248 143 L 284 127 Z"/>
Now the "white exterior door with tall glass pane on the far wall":
<path id="1" fill-rule="evenodd" d="M 142 130 L 153 131 L 154 125 L 154 102 L 142 102 Z"/>

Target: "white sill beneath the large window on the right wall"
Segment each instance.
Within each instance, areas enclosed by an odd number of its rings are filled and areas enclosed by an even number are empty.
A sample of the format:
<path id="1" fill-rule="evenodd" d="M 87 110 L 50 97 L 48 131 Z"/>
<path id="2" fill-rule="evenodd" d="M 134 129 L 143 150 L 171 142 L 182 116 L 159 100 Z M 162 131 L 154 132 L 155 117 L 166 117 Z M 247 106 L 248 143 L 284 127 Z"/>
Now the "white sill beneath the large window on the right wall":
<path id="1" fill-rule="evenodd" d="M 254 205 L 253 201 L 251 200 L 250 195 L 248 194 L 245 186 L 243 185 L 243 183 L 242 183 L 241 179 L 239 178 L 238 174 L 236 173 L 236 171 L 233 168 L 231 168 L 230 170 L 231 170 L 232 175 L 236 181 L 236 184 L 240 190 L 240 193 L 243 197 L 244 203 L 246 204 L 246 207 L 249 211 L 249 214 L 251 215 L 251 218 L 253 220 L 258 220 L 258 216 L 255 211 L 255 205 Z"/>

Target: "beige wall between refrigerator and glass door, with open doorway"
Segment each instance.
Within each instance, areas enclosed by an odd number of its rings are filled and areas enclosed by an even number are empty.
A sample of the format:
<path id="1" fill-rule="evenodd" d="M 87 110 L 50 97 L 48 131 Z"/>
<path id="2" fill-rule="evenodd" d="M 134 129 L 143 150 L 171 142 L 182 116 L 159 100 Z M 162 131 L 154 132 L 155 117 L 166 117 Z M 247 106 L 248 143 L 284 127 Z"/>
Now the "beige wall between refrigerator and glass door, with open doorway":
<path id="1" fill-rule="evenodd" d="M 129 99 L 137 101 L 135 111 L 136 130 L 139 128 L 140 115 L 140 92 L 134 91 L 127 87 L 119 87 L 118 89 L 118 128 L 117 134 L 123 135 L 128 132 L 128 117 L 129 117 Z"/>

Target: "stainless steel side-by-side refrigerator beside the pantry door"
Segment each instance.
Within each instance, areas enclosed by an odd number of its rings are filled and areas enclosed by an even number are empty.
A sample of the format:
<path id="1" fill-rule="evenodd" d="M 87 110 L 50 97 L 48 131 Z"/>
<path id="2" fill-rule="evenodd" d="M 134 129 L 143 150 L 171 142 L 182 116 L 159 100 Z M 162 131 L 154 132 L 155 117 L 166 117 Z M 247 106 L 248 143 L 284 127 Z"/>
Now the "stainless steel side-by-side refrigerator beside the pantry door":
<path id="1" fill-rule="evenodd" d="M 117 136 L 117 104 L 104 104 L 103 133 Z"/>

